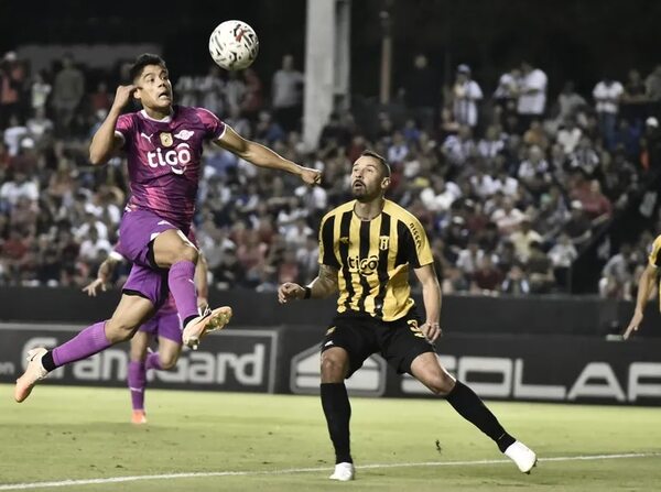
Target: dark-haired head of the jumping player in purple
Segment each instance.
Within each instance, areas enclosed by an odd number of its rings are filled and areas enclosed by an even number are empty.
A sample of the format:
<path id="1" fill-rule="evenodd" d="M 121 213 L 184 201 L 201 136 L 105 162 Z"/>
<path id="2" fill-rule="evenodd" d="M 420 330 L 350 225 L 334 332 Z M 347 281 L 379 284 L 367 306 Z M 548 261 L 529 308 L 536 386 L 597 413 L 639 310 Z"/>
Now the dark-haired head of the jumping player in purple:
<path id="1" fill-rule="evenodd" d="M 144 108 L 167 111 L 172 107 L 172 83 L 165 62 L 159 55 L 143 53 L 138 56 L 129 76 L 137 87 L 133 97 Z"/>

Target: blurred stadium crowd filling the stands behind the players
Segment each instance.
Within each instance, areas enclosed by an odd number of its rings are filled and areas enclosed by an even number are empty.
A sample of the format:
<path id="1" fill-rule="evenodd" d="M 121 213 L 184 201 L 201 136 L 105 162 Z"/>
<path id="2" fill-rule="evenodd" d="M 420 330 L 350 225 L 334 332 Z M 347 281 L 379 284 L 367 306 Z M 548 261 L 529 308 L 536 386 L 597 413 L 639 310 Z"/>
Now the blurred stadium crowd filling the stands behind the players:
<path id="1" fill-rule="evenodd" d="M 72 56 L 40 73 L 28 62 L 10 52 L 0 64 L 0 285 L 82 286 L 117 240 L 129 192 L 121 158 L 100 168 L 87 160 L 117 80 Z M 644 190 L 657 162 L 661 65 L 644 78 L 632 69 L 622 83 L 595 80 L 588 95 L 566 81 L 552 97 L 546 74 L 527 62 L 486 94 L 469 66 L 443 85 L 416 55 L 373 124 L 338 109 L 312 151 L 301 139 L 304 77 L 293 57 L 269 94 L 253 69 L 177 75 L 178 103 L 205 107 L 324 173 L 322 186 L 302 187 L 206 147 L 196 227 L 218 288 L 312 280 L 319 218 L 347 199 L 350 163 L 370 147 L 392 165 L 389 197 L 427 230 L 443 292 L 565 292 L 574 260 Z M 630 295 L 625 284 L 651 239 L 608 262 L 603 295 Z"/>

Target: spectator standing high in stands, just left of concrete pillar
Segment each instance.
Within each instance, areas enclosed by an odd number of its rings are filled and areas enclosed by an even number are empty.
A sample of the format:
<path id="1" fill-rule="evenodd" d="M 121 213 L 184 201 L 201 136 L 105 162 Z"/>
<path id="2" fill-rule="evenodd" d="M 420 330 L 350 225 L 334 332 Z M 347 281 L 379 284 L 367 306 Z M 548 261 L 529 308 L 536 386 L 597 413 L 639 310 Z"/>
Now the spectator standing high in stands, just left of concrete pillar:
<path id="1" fill-rule="evenodd" d="M 272 106 L 275 119 L 286 131 L 300 130 L 304 81 L 303 74 L 294 68 L 294 56 L 284 55 L 282 67 L 273 74 Z"/>

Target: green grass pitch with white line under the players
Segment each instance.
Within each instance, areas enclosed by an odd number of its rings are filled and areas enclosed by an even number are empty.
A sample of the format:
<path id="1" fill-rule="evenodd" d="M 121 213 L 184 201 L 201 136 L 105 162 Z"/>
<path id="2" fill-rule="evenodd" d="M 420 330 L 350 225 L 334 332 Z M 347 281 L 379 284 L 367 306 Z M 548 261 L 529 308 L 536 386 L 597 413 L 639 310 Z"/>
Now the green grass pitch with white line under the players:
<path id="1" fill-rule="evenodd" d="M 43 384 L 20 405 L 12 390 L 0 385 L 0 491 L 661 488 L 661 408 L 491 402 L 540 456 L 524 475 L 443 401 L 354 397 L 357 480 L 337 483 L 317 397 L 153 390 L 133 426 L 126 390 Z"/>

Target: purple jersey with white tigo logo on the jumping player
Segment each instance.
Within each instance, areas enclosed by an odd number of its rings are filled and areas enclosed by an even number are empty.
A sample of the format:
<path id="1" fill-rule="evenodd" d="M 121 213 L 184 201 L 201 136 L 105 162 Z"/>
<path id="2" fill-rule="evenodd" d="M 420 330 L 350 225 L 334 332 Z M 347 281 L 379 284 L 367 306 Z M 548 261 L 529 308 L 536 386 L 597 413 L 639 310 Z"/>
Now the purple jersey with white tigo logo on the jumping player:
<path id="1" fill-rule="evenodd" d="M 144 110 L 122 114 L 116 133 L 128 155 L 131 210 L 149 210 L 187 231 L 195 212 L 202 145 L 217 140 L 225 123 L 203 108 L 174 106 L 158 121 Z"/>

